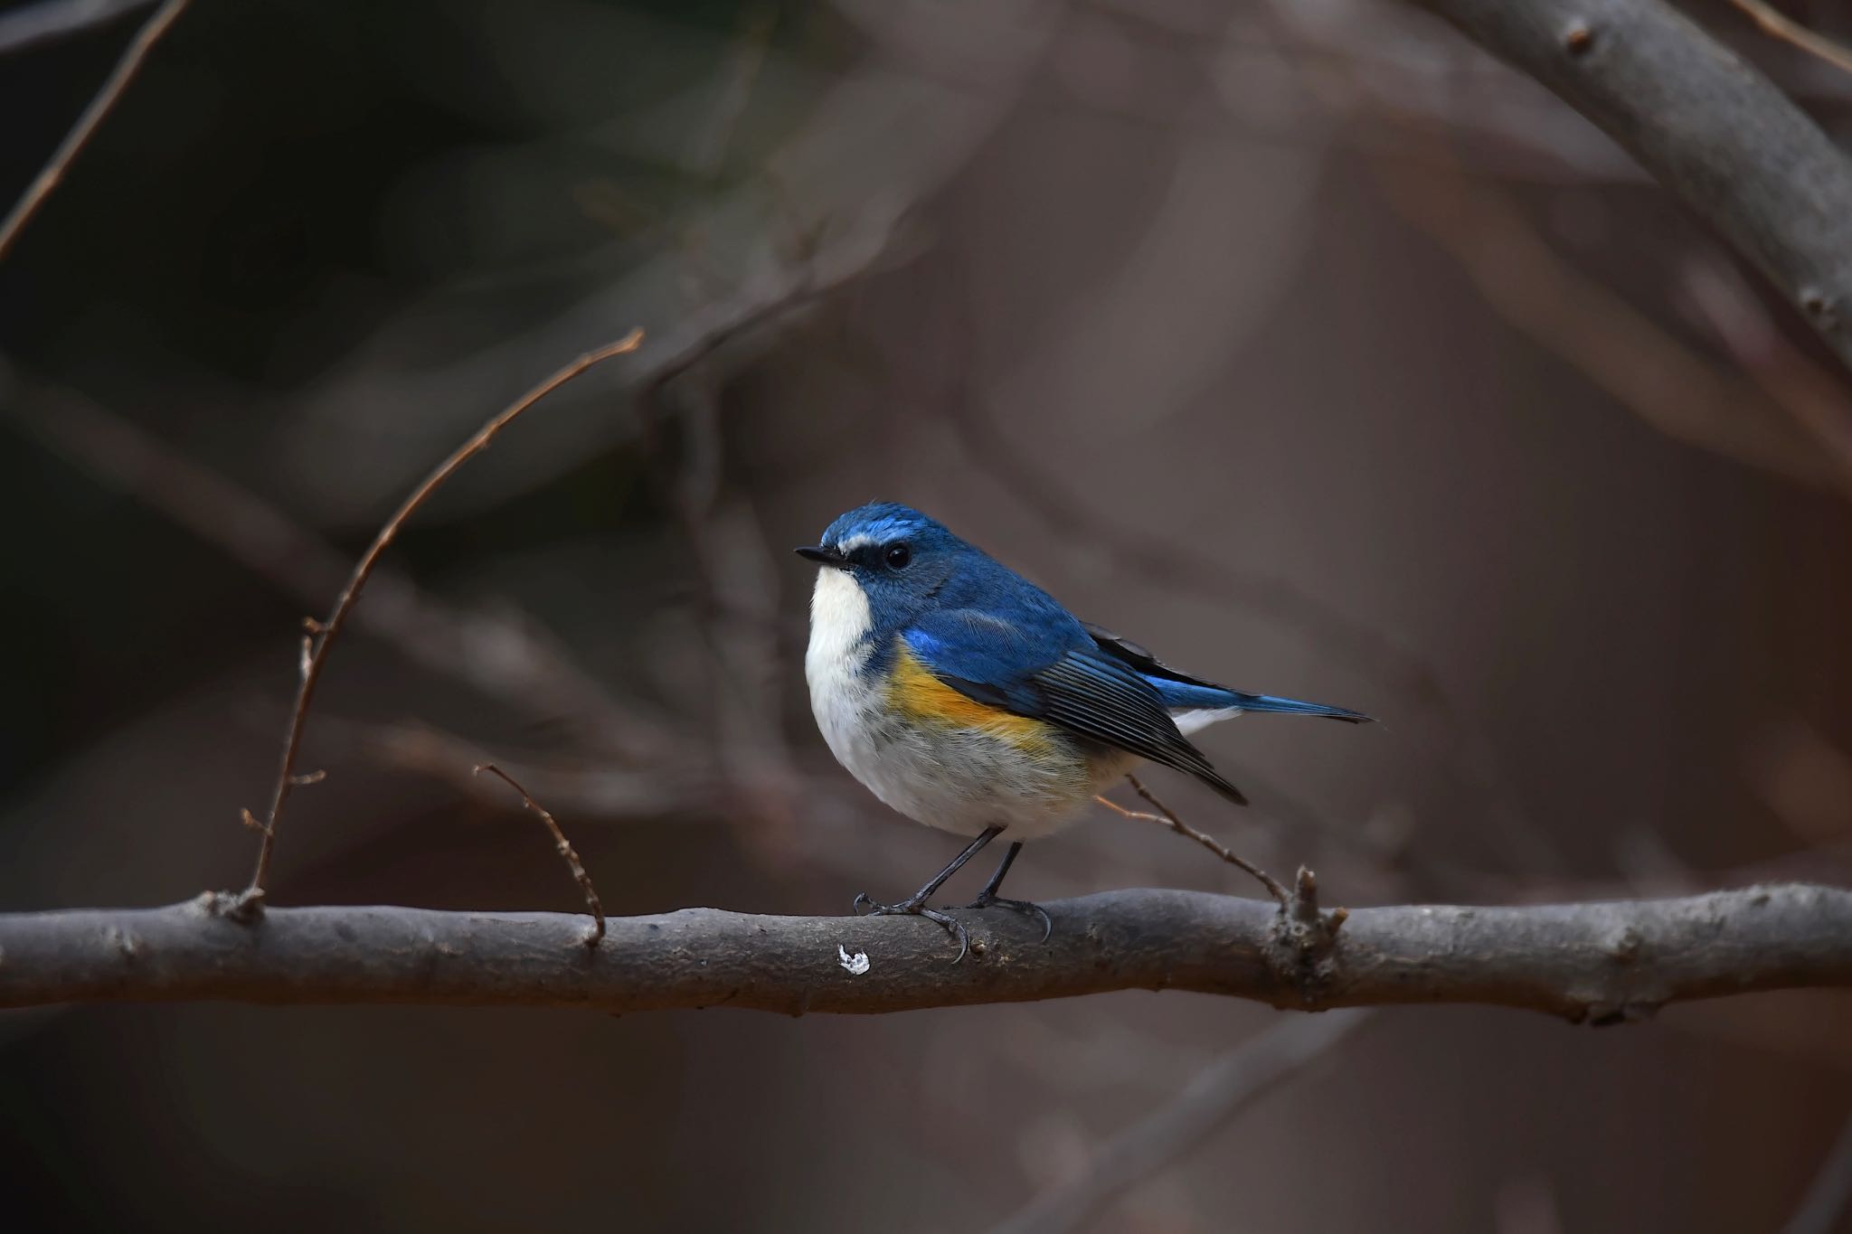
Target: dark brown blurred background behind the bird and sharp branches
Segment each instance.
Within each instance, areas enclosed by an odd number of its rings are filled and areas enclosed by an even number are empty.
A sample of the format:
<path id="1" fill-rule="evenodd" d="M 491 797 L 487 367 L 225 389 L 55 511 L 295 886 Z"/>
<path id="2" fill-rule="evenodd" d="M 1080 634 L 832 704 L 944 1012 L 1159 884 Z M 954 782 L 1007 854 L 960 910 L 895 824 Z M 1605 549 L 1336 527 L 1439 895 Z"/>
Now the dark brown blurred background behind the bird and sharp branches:
<path id="1" fill-rule="evenodd" d="M 150 11 L 0 52 L 7 202 Z M 1845 131 L 1852 78 L 1689 11 Z M 802 683 L 789 546 L 869 498 L 1172 662 L 1380 716 L 1206 734 L 1246 812 L 1154 775 L 1330 903 L 1852 882 L 1852 387 L 1448 30 L 194 0 L 0 266 L 0 908 L 241 886 L 302 616 L 632 326 L 389 553 L 274 901 L 574 908 L 482 757 L 613 912 L 913 888 L 946 836 L 830 760 Z M 1250 894 L 1104 810 L 1011 882 L 1135 884 Z M 1278 1019 L 7 1012 L 0 1221 L 989 1228 Z M 1848 1108 L 1845 993 L 1396 1010 L 1089 1228 L 1776 1230 Z"/>

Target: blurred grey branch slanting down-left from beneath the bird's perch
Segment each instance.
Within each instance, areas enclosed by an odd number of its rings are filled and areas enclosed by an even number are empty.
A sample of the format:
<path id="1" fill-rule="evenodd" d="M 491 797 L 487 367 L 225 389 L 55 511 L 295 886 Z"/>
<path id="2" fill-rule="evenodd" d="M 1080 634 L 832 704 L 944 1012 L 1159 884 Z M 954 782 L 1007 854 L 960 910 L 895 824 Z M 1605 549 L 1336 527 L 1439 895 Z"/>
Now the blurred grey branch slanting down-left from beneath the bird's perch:
<path id="1" fill-rule="evenodd" d="M 1374 1012 L 1330 1012 L 1267 1029 L 1204 1067 L 1172 1101 L 1124 1129 L 1067 1182 L 1048 1188 L 991 1234 L 1069 1234 L 1128 1190 L 1172 1166 L 1243 1106 L 1293 1079 L 1361 1029 Z"/>

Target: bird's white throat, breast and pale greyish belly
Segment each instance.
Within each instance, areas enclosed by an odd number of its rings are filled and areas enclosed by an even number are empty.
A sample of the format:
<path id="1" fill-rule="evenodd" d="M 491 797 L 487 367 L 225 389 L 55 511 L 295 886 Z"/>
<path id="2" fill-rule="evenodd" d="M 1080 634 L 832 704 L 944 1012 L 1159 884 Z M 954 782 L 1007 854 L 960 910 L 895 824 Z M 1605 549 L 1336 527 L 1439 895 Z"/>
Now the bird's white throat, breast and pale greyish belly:
<path id="1" fill-rule="evenodd" d="M 887 705 L 880 677 L 863 675 L 869 601 L 852 577 L 824 570 L 811 598 L 804 655 L 811 712 L 830 753 L 869 792 L 907 818 L 965 836 L 1006 827 L 1035 840 L 1070 823 L 1132 757 L 1089 757 L 1078 744 L 1026 751 L 976 729 L 915 722 Z"/>

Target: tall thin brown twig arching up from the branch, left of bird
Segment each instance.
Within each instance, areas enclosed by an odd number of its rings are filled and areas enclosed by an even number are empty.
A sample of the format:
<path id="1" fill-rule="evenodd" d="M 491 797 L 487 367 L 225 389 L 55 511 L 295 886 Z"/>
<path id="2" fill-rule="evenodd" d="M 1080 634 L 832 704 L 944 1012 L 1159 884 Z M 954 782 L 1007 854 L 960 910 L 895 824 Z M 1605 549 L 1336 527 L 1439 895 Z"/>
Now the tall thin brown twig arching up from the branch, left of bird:
<path id="1" fill-rule="evenodd" d="M 572 377 L 578 377 L 593 364 L 600 364 L 615 355 L 635 352 L 641 342 L 643 331 L 633 329 L 617 342 L 593 348 L 491 416 L 487 424 L 476 429 L 474 437 L 457 446 L 448 459 L 437 464 L 437 470 L 424 477 L 424 483 L 419 485 L 417 490 L 406 498 L 406 503 L 385 520 L 385 525 L 380 527 L 380 535 L 376 535 L 372 544 L 367 546 L 367 551 L 354 566 L 354 574 L 348 577 L 346 588 L 341 592 L 341 599 L 335 601 L 333 612 L 328 614 L 326 622 L 315 623 L 313 648 L 307 651 L 307 659 L 302 666 L 302 685 L 296 688 L 296 705 L 289 714 L 289 731 L 283 734 L 283 760 L 276 773 L 276 788 L 270 794 L 270 810 L 263 821 L 263 842 L 257 847 L 257 868 L 252 871 L 250 888 L 246 888 L 241 901 L 244 912 L 250 912 L 250 908 L 261 901 L 265 879 L 270 875 L 270 853 L 276 847 L 276 823 L 283 814 L 283 803 L 289 801 L 289 790 L 294 784 L 293 775 L 296 770 L 296 751 L 302 747 L 302 729 L 309 716 L 309 703 L 315 699 L 315 685 L 322 677 L 322 664 L 328 662 L 328 648 L 341 633 L 341 625 L 346 622 L 348 611 L 359 599 L 359 592 L 372 575 L 374 566 L 380 562 L 380 555 L 385 553 L 385 546 L 398 537 L 406 520 L 411 518 L 411 514 L 424 505 L 459 466 L 476 457 L 494 438 L 494 435 L 507 427 L 509 422 L 513 422 L 520 413 L 528 411 L 528 407 L 533 407 L 537 401 L 557 390 Z"/>

